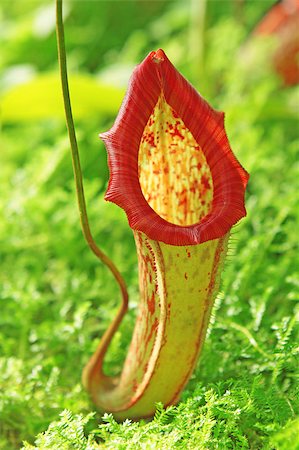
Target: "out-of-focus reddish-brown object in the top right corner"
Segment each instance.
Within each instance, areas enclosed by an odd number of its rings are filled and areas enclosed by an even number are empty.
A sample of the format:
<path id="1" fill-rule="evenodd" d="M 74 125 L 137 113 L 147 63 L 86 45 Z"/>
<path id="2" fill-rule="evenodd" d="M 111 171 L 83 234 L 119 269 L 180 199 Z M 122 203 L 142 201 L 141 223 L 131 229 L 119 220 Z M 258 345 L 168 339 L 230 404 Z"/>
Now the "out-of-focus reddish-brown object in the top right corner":
<path id="1" fill-rule="evenodd" d="M 277 36 L 275 70 L 287 86 L 299 83 L 299 0 L 280 0 L 272 6 L 254 34 Z"/>

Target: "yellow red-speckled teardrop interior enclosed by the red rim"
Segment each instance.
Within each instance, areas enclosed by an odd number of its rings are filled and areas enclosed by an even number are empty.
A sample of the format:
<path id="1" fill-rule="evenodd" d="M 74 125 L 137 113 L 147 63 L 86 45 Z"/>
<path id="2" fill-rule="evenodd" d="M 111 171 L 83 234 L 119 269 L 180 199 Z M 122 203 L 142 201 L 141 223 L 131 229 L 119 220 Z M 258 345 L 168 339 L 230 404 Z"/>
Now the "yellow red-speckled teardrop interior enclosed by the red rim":
<path id="1" fill-rule="evenodd" d="M 144 129 L 138 156 L 142 193 L 163 219 L 193 225 L 213 201 L 213 180 L 205 155 L 163 95 Z"/>

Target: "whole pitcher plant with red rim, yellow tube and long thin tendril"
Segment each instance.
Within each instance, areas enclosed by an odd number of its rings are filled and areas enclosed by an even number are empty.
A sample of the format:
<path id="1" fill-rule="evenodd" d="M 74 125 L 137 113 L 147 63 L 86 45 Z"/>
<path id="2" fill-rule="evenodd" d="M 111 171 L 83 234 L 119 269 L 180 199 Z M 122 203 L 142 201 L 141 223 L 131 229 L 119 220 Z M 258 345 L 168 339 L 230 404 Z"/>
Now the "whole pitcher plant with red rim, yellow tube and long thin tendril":
<path id="1" fill-rule="evenodd" d="M 69 119 L 60 0 L 57 12 Z M 151 52 L 134 70 L 113 127 L 101 134 L 110 171 L 105 199 L 127 214 L 136 242 L 140 288 L 123 369 L 119 376 L 109 377 L 103 361 L 128 297 L 119 272 L 91 237 L 72 121 L 68 126 L 83 233 L 112 270 L 123 298 L 84 368 L 83 384 L 95 405 L 119 420 L 150 417 L 157 402 L 165 406 L 178 402 L 197 363 L 230 231 L 246 215 L 248 174 L 230 148 L 224 114 L 196 92 L 163 50 Z"/>

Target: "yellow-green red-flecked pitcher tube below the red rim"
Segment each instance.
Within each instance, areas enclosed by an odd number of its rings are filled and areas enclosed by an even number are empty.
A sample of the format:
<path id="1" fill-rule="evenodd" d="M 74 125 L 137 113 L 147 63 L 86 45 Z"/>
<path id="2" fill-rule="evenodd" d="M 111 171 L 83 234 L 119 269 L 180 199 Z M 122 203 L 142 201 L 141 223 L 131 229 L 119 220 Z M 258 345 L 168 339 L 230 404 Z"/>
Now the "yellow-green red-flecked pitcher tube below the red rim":
<path id="1" fill-rule="evenodd" d="M 117 387 L 102 399 L 122 419 L 152 415 L 157 401 L 178 401 L 204 342 L 228 240 L 176 247 L 134 236 L 137 320 Z"/>

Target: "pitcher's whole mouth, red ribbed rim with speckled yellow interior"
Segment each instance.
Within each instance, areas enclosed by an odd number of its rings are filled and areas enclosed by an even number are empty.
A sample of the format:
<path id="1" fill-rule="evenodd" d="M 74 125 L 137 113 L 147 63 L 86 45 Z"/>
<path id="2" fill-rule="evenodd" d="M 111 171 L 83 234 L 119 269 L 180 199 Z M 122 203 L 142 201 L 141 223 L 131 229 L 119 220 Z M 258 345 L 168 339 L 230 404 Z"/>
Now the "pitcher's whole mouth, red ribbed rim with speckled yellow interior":
<path id="1" fill-rule="evenodd" d="M 246 215 L 249 176 L 230 148 L 224 114 L 162 50 L 137 66 L 114 126 L 101 137 L 110 169 L 105 199 L 125 210 L 132 229 L 196 245 L 224 236 Z"/>

